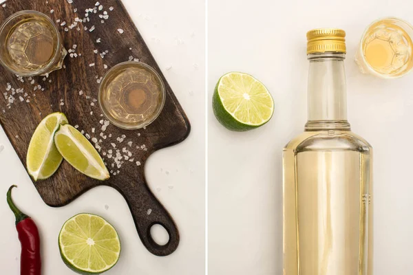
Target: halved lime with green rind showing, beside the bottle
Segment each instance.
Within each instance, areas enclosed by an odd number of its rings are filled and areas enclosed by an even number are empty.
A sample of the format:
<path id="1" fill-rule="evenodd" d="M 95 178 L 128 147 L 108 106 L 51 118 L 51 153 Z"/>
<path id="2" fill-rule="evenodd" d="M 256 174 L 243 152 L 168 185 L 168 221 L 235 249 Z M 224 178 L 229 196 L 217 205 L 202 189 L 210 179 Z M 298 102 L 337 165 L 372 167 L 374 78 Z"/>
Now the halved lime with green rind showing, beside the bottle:
<path id="1" fill-rule="evenodd" d="M 271 119 L 274 101 L 253 76 L 231 72 L 222 76 L 215 87 L 213 113 L 227 129 L 248 131 Z"/>

